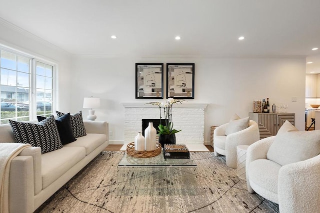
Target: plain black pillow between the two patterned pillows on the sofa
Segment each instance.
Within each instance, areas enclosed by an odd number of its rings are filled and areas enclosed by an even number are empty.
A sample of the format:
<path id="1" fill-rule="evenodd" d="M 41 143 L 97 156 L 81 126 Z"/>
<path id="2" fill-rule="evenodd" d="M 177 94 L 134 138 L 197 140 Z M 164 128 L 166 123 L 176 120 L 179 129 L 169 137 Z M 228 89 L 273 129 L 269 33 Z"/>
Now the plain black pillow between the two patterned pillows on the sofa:
<path id="1" fill-rule="evenodd" d="M 38 121 L 42 121 L 46 119 L 45 117 L 42 117 L 42 116 L 36 116 L 36 118 L 38 119 Z M 62 145 L 76 141 L 72 132 L 70 113 L 66 113 L 61 117 L 56 118 L 55 123 L 58 128 Z"/>

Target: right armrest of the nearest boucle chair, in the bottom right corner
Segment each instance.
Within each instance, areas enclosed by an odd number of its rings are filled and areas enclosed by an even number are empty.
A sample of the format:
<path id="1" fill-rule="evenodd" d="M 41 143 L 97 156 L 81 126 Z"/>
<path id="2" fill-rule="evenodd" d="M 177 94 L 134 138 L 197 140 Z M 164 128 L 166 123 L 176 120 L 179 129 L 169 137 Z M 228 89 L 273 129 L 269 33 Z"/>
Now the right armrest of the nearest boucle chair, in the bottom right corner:
<path id="1" fill-rule="evenodd" d="M 319 212 L 319 179 L 320 155 L 281 167 L 278 176 L 280 212 Z"/>

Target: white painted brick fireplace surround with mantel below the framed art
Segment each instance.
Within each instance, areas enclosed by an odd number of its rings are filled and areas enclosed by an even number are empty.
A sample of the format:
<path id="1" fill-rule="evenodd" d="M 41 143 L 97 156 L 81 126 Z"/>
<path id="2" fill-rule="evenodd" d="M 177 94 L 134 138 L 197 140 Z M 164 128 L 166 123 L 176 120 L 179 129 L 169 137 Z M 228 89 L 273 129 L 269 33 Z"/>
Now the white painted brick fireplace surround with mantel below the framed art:
<path id="1" fill-rule="evenodd" d="M 123 106 L 124 143 L 133 142 L 137 133 L 142 131 L 142 119 L 160 118 L 158 106 L 137 103 L 124 103 Z M 175 134 L 177 144 L 204 143 L 204 109 L 206 106 L 207 104 L 186 103 L 173 105 L 173 128 L 182 130 Z"/>

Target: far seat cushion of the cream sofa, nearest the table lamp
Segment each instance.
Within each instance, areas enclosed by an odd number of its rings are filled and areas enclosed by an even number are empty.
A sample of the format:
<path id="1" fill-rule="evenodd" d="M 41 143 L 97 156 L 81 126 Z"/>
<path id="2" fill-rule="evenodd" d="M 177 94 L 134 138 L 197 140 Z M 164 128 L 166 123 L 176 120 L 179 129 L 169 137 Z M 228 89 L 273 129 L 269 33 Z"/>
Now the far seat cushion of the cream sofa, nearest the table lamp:
<path id="1" fill-rule="evenodd" d="M 98 146 L 103 144 L 105 141 L 106 141 L 106 135 L 104 134 L 88 133 L 86 134 L 86 136 L 77 138 L 76 141 L 64 145 L 64 147 L 74 147 L 74 146 L 84 147 L 85 155 L 88 155 Z"/>

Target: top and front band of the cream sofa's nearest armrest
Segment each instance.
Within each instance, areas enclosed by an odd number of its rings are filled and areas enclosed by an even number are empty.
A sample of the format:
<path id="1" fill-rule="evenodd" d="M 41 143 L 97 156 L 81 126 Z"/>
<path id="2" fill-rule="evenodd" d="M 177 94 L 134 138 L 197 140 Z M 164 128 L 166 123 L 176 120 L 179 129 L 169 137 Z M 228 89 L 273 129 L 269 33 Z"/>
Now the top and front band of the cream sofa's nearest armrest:
<path id="1" fill-rule="evenodd" d="M 33 161 L 34 195 L 42 190 L 41 148 L 28 147 L 22 150 L 18 156 L 31 156 Z"/>

